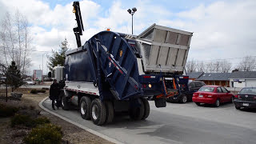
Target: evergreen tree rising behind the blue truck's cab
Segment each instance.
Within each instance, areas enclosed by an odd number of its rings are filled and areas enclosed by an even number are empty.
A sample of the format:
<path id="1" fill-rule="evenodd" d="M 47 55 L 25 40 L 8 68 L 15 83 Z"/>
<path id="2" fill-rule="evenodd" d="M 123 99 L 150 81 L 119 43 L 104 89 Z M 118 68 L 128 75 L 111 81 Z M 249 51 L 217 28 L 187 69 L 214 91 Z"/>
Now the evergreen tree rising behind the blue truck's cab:
<path id="1" fill-rule="evenodd" d="M 47 67 L 49 70 L 53 70 L 54 66 L 64 66 L 65 62 L 65 53 L 68 50 L 68 42 L 66 38 L 62 42 L 60 49 L 58 51 L 52 50 L 52 56 L 50 56 L 47 62 Z"/>

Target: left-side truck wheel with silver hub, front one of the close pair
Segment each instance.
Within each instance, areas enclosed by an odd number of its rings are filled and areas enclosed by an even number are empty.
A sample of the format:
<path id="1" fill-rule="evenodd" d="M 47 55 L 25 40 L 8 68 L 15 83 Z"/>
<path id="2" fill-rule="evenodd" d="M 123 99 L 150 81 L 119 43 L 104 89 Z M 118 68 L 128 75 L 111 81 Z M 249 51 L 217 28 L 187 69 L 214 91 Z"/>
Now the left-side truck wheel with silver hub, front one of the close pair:
<path id="1" fill-rule="evenodd" d="M 83 119 L 90 119 L 90 105 L 91 100 L 87 96 L 83 96 L 80 100 L 80 114 Z"/>

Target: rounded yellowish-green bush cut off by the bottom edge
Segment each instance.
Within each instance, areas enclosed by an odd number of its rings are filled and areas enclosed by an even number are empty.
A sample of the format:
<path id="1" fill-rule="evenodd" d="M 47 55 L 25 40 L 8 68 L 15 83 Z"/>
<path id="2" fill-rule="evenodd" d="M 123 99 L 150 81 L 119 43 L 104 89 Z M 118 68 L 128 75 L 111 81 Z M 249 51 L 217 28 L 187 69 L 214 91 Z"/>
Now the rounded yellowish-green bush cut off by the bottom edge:
<path id="1" fill-rule="evenodd" d="M 54 126 L 53 124 L 40 125 L 32 129 L 23 141 L 27 144 L 58 144 L 62 142 L 61 130 L 60 126 Z"/>

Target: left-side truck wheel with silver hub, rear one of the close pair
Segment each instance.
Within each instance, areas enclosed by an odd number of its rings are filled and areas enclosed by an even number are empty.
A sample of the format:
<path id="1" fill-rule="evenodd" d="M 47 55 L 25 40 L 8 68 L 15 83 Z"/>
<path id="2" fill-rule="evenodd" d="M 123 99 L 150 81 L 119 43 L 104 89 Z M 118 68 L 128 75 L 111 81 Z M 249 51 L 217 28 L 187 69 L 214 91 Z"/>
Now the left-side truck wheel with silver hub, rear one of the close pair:
<path id="1" fill-rule="evenodd" d="M 91 119 L 95 125 L 102 125 L 106 121 L 106 106 L 98 98 L 91 102 Z"/>

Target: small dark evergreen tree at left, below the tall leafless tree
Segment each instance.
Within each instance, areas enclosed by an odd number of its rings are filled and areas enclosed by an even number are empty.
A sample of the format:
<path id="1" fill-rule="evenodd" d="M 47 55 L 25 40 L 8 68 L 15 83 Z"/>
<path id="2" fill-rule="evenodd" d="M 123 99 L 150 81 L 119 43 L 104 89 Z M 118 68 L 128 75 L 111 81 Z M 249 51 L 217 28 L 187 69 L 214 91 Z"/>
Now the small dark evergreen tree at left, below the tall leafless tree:
<path id="1" fill-rule="evenodd" d="M 24 84 L 20 70 L 18 70 L 18 67 L 14 61 L 12 61 L 11 65 L 8 67 L 6 77 L 7 85 L 11 87 L 12 91 Z"/>

